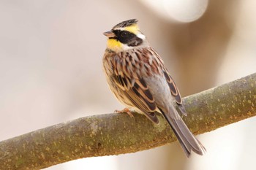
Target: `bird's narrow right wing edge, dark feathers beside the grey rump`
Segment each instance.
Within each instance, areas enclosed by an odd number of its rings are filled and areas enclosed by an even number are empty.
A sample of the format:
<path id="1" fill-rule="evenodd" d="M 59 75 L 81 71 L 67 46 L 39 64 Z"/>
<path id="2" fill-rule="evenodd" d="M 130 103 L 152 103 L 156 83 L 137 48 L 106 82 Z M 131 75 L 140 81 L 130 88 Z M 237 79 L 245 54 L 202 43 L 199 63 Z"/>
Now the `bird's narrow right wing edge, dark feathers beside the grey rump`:
<path id="1" fill-rule="evenodd" d="M 181 110 L 181 113 L 183 115 L 187 116 L 186 109 L 184 107 L 184 104 L 182 103 L 181 94 L 179 93 L 178 88 L 173 81 L 173 78 L 170 76 L 170 74 L 168 74 L 167 70 L 163 70 L 162 72 L 165 74 L 165 79 L 169 85 L 170 92 L 172 93 L 173 97 L 176 100 L 176 103 L 178 104 L 178 108 Z"/>

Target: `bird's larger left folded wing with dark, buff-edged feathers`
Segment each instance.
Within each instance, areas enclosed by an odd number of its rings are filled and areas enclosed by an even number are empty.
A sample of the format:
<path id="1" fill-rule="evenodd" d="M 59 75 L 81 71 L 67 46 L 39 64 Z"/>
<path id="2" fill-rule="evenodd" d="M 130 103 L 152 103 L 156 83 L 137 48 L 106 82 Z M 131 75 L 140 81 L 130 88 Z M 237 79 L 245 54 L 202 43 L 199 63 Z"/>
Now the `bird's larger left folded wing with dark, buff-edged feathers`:
<path id="1" fill-rule="evenodd" d="M 154 113 L 157 110 L 157 104 L 143 78 L 134 79 L 125 75 L 113 75 L 113 80 L 134 107 L 140 109 L 152 122 L 159 122 Z"/>

